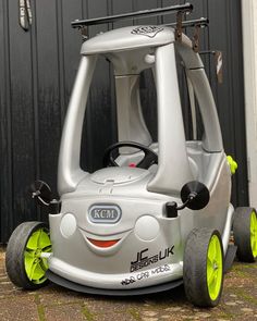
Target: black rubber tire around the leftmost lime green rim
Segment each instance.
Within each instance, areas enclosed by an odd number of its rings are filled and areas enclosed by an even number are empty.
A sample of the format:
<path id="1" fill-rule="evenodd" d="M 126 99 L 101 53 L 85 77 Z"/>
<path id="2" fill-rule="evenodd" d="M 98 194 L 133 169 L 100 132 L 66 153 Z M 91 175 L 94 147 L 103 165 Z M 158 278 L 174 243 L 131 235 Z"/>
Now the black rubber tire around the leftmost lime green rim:
<path id="1" fill-rule="evenodd" d="M 9 279 L 17 287 L 24 289 L 37 289 L 47 284 L 47 279 L 37 284 L 27 276 L 24 262 L 24 251 L 29 236 L 39 229 L 48 231 L 48 226 L 42 222 L 25 222 L 20 224 L 12 233 L 5 255 L 5 268 Z"/>

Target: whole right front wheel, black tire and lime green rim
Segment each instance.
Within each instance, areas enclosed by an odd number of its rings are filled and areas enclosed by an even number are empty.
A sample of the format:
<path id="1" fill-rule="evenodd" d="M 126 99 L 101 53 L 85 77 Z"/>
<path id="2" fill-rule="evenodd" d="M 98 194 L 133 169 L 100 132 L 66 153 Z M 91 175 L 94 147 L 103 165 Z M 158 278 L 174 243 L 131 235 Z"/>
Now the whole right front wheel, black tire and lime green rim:
<path id="1" fill-rule="evenodd" d="M 223 287 L 223 247 L 218 231 L 195 229 L 185 244 L 183 279 L 188 300 L 216 307 Z"/>

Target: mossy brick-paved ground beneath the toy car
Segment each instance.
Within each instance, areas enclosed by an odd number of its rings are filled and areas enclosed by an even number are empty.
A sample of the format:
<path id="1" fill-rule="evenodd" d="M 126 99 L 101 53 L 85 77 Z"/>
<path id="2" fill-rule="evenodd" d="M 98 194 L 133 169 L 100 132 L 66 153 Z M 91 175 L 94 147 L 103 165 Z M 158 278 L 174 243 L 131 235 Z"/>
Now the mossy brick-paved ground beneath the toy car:
<path id="1" fill-rule="evenodd" d="M 221 303 L 198 309 L 187 303 L 183 287 L 140 297 L 103 297 L 68 291 L 54 284 L 36 291 L 15 288 L 4 268 L 0 247 L 0 321 L 158 321 L 257 320 L 257 263 L 235 262 L 225 275 Z"/>

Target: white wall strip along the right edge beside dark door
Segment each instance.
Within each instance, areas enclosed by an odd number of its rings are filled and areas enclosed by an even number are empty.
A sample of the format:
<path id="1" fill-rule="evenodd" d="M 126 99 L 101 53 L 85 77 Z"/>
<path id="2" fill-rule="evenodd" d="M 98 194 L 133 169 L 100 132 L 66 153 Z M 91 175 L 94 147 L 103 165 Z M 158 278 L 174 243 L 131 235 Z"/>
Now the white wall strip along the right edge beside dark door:
<path id="1" fill-rule="evenodd" d="M 242 0 L 241 5 L 249 201 L 257 208 L 257 1 Z"/>

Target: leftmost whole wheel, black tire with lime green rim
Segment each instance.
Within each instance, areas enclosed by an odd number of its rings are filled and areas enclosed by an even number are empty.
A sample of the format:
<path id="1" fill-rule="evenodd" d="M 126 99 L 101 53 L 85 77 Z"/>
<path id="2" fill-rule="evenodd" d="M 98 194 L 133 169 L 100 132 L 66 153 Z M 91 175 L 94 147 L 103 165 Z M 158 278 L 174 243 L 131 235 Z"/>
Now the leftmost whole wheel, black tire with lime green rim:
<path id="1" fill-rule="evenodd" d="M 51 251 L 49 231 L 45 223 L 25 222 L 12 233 L 5 255 L 7 273 L 17 287 L 36 289 L 46 284 L 47 259 Z"/>

